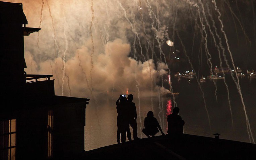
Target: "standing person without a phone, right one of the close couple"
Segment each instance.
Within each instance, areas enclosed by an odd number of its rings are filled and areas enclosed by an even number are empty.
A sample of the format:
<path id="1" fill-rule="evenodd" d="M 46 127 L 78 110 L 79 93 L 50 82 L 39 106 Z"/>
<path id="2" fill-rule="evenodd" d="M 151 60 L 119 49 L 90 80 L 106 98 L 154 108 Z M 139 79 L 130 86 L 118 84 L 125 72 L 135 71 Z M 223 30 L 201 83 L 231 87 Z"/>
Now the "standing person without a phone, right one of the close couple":
<path id="1" fill-rule="evenodd" d="M 133 95 L 129 94 L 127 97 L 127 109 L 128 109 L 128 124 L 132 127 L 133 131 L 133 140 L 138 140 L 138 132 L 137 132 L 137 110 L 136 105 L 133 100 Z M 127 137 L 131 137 L 131 132 L 127 132 Z"/>

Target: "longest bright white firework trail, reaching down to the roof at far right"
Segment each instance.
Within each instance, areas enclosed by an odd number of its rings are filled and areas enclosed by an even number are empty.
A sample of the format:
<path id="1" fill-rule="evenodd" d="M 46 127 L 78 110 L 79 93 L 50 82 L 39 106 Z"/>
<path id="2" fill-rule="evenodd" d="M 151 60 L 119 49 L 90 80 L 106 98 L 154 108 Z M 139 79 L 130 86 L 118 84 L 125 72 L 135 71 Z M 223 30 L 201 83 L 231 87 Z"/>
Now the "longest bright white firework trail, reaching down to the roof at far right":
<path id="1" fill-rule="evenodd" d="M 233 56 L 231 54 L 231 51 L 230 51 L 230 47 L 229 47 L 229 43 L 228 43 L 228 38 L 227 38 L 227 35 L 226 35 L 226 32 L 223 30 L 224 26 L 223 26 L 223 23 L 220 19 L 221 17 L 221 13 L 219 12 L 218 8 L 217 8 L 217 5 L 216 5 L 216 1 L 215 0 L 212 0 L 211 1 L 213 4 L 214 4 L 214 7 L 215 7 L 215 10 L 218 12 L 218 20 L 221 24 L 221 32 L 223 33 L 224 37 L 225 37 L 225 40 L 226 40 L 226 45 L 227 45 L 227 48 L 228 48 L 228 52 L 230 54 L 230 57 L 231 57 L 231 61 L 232 61 L 232 65 L 234 67 L 234 70 L 235 70 L 235 74 L 236 74 L 236 78 L 237 78 L 237 82 L 233 76 L 233 74 L 231 73 L 232 75 L 232 78 L 234 80 L 234 82 L 236 83 L 236 86 L 237 86 L 237 89 L 238 89 L 238 92 L 240 94 L 240 97 L 241 97 L 241 101 L 242 101 L 242 104 L 243 104 L 243 109 L 244 109 L 244 112 L 245 112 L 245 118 L 246 118 L 246 127 L 247 127 L 247 133 L 249 135 L 249 140 L 251 142 L 251 139 L 254 142 L 254 138 L 253 138 L 253 134 L 252 134 L 252 131 L 251 131 L 251 125 L 250 125 L 250 122 L 249 122 L 249 119 L 248 119 L 248 116 L 247 116 L 247 111 L 246 111 L 246 107 L 245 107 L 245 104 L 244 104 L 244 99 L 243 99 L 243 95 L 242 95 L 242 92 L 241 92 L 241 87 L 240 87 L 240 83 L 239 83 L 239 77 L 237 75 L 237 71 L 236 71 L 236 68 L 235 68 L 235 64 L 234 64 L 234 60 L 233 60 Z M 227 61 L 226 61 L 227 63 Z"/>

